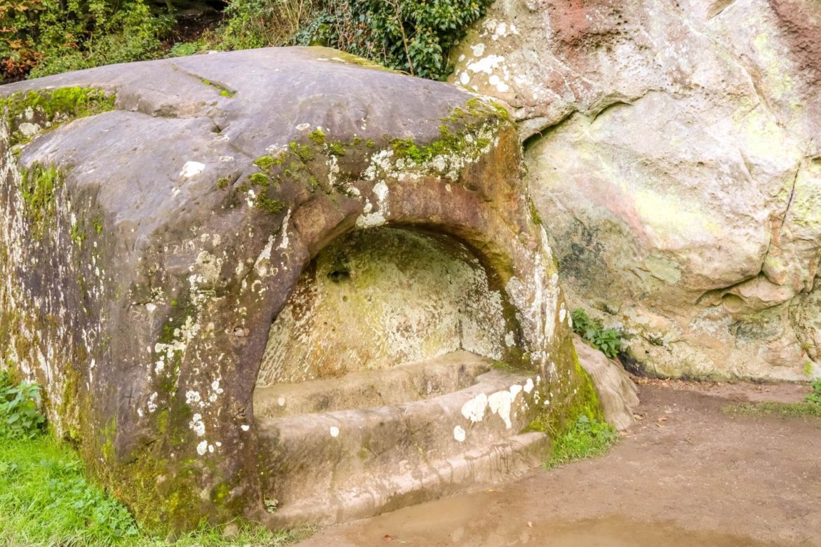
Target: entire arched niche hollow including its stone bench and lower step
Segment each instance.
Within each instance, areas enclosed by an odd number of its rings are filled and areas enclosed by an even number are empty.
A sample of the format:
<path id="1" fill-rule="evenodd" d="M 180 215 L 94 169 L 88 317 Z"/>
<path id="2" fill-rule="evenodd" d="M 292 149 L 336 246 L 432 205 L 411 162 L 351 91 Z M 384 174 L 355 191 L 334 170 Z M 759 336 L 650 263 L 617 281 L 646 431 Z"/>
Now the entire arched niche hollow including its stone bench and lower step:
<path id="1" fill-rule="evenodd" d="M 545 437 L 519 433 L 538 380 L 502 366 L 521 333 L 501 285 L 461 241 L 404 227 L 319 252 L 254 394 L 275 517 L 339 522 L 534 465 Z M 482 422 L 485 408 L 498 417 Z"/>

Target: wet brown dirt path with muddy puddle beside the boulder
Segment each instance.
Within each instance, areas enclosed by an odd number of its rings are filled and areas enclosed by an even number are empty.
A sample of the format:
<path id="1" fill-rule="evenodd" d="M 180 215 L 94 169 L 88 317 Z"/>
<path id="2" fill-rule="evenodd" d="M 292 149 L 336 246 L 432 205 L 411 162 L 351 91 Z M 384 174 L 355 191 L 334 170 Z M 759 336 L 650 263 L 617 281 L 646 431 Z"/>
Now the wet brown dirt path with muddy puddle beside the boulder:
<path id="1" fill-rule="evenodd" d="M 603 458 L 328 528 L 300 545 L 819 547 L 821 420 L 721 411 L 804 391 L 645 383 L 644 419 Z"/>

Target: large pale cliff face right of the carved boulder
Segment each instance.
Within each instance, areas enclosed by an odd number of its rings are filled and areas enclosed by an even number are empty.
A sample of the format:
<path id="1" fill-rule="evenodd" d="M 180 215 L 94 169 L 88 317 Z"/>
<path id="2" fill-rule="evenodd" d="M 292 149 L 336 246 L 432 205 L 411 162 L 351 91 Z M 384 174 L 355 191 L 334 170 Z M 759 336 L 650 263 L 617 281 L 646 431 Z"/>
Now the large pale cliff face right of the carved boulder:
<path id="1" fill-rule="evenodd" d="M 500 0 L 453 79 L 515 108 L 568 298 L 663 376 L 821 374 L 821 5 Z"/>

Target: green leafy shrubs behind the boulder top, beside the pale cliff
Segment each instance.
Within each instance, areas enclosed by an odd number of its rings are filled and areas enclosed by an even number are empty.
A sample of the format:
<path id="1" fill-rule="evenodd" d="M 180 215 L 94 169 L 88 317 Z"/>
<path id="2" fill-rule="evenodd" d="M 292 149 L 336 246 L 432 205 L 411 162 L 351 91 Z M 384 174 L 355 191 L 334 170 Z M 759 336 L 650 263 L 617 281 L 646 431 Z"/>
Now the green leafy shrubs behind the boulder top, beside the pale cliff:
<path id="1" fill-rule="evenodd" d="M 493 0 L 232 0 L 227 48 L 323 45 L 443 80 L 450 48 Z"/>

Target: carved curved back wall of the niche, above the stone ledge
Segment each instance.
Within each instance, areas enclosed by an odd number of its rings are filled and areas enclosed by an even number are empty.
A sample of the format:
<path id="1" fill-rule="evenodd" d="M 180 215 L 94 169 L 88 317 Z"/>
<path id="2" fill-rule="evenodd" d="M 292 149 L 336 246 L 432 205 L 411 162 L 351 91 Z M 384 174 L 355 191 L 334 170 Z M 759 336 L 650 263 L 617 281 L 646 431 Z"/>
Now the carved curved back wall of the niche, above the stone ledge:
<path id="1" fill-rule="evenodd" d="M 257 385 L 386 371 L 459 350 L 498 361 L 517 338 L 507 308 L 493 272 L 456 239 L 355 230 L 300 276 L 271 328 Z"/>

